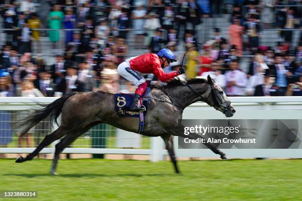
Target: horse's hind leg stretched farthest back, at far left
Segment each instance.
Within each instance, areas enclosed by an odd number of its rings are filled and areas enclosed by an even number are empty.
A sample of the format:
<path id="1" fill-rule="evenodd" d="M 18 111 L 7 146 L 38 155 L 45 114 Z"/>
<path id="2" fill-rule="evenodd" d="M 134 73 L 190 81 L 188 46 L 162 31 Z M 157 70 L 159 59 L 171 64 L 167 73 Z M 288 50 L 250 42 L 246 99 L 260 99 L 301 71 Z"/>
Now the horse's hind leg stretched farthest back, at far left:
<path id="1" fill-rule="evenodd" d="M 22 156 L 19 156 L 16 159 L 16 163 L 22 163 L 24 161 L 30 161 L 32 160 L 35 156 L 38 155 L 38 153 L 46 146 L 51 144 L 57 139 L 60 139 L 62 136 L 64 136 L 66 133 L 62 131 L 62 127 L 59 127 L 57 130 L 52 132 L 51 134 L 48 134 L 45 136 L 45 138 L 41 141 L 41 143 L 38 145 L 38 147 L 29 155 L 27 155 L 26 158 L 23 158 Z"/>

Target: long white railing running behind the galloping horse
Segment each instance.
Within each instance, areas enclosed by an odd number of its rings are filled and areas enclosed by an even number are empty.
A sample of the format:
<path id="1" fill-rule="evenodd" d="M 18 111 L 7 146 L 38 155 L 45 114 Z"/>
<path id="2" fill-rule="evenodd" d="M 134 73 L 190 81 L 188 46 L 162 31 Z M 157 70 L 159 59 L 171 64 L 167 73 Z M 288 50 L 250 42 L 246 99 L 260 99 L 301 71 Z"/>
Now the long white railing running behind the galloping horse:
<path id="1" fill-rule="evenodd" d="M 0 110 L 18 111 L 35 105 L 33 100 L 50 103 L 57 98 L 0 98 Z M 302 119 L 302 97 L 231 97 L 236 109 L 231 119 Z M 30 104 L 30 105 L 29 105 Z M 185 109 L 184 119 L 226 119 L 219 111 L 207 104 L 197 102 Z M 55 129 L 55 128 L 54 128 Z M 1 131 L 1 128 L 0 128 Z M 178 157 L 215 157 L 208 149 L 178 149 L 178 138 L 175 137 L 175 151 Z M 54 145 L 44 148 L 40 153 L 54 153 Z M 147 149 L 115 149 L 115 148 L 66 148 L 63 153 L 89 153 L 89 154 L 138 154 L 150 155 L 151 161 L 162 160 L 167 151 L 163 149 L 160 137 L 151 137 Z M 31 153 L 35 148 L 0 148 L 0 153 Z M 269 157 L 302 157 L 302 149 L 225 149 L 223 150 L 233 158 L 246 158 L 260 156 L 264 152 Z"/>

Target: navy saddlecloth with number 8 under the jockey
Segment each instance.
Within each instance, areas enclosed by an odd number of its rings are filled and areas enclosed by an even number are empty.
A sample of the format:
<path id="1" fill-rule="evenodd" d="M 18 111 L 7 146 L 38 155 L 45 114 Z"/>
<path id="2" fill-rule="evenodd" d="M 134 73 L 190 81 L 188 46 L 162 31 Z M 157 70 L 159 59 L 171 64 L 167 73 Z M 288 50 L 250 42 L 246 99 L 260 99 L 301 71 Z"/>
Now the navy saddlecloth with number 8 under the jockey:
<path id="1" fill-rule="evenodd" d="M 134 112 L 129 109 L 133 97 L 134 94 L 123 94 L 123 93 L 114 94 L 114 102 L 115 102 L 114 105 L 118 115 L 126 116 L 126 117 L 139 117 L 140 112 Z M 146 111 L 142 112 L 144 113 L 144 115 L 147 113 L 148 105 L 151 99 L 152 99 L 152 93 L 150 87 L 148 87 L 144 92 L 141 100 L 139 101 L 139 104 L 143 104 L 146 107 Z"/>

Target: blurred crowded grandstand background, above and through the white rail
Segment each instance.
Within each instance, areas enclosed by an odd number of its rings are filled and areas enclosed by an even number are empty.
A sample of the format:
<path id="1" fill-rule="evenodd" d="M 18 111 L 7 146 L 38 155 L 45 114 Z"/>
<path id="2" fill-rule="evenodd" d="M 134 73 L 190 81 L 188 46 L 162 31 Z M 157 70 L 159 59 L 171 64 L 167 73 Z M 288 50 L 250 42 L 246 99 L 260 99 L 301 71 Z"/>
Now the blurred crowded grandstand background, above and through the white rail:
<path id="1" fill-rule="evenodd" d="M 210 74 L 229 97 L 301 96 L 301 13 L 301 0 L 0 0 L 0 97 L 133 93 L 121 62 L 169 48 L 178 60 L 169 72 L 189 47 L 187 77 Z M 37 146 L 53 128 L 46 120 L 19 138 L 12 123 L 27 114 L 17 110 L 0 111 L 0 147 Z M 71 147 L 150 144 L 101 124 Z"/>

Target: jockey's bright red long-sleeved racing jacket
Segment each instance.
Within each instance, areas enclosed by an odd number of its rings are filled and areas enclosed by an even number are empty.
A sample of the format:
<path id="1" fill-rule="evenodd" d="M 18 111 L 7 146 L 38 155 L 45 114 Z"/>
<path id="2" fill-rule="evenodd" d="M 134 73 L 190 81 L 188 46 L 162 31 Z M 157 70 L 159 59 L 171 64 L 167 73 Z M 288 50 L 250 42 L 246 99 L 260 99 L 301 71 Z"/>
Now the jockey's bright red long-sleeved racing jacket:
<path id="1" fill-rule="evenodd" d="M 129 61 L 132 69 L 142 73 L 153 73 L 160 81 L 166 82 L 178 76 L 178 72 L 165 73 L 156 54 L 144 54 Z"/>

